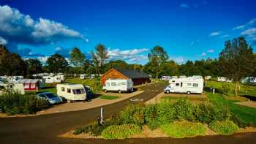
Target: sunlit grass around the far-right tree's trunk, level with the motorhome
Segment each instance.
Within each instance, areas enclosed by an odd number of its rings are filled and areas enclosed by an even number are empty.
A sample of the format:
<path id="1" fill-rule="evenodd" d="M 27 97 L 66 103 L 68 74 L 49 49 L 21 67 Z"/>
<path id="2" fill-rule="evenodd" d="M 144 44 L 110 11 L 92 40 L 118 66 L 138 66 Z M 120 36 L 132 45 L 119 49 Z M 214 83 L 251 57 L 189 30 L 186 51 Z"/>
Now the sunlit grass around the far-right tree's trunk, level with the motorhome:
<path id="1" fill-rule="evenodd" d="M 234 96 L 234 83 L 225 83 L 225 82 L 217 82 L 217 81 L 207 81 L 206 86 L 212 87 L 212 88 L 222 88 L 223 84 L 227 84 L 230 86 L 230 91 L 227 93 L 228 96 Z M 247 91 L 246 91 L 247 90 Z M 256 86 L 249 86 L 240 84 L 240 90 L 238 92 L 238 95 L 249 95 L 249 96 L 256 96 Z"/>

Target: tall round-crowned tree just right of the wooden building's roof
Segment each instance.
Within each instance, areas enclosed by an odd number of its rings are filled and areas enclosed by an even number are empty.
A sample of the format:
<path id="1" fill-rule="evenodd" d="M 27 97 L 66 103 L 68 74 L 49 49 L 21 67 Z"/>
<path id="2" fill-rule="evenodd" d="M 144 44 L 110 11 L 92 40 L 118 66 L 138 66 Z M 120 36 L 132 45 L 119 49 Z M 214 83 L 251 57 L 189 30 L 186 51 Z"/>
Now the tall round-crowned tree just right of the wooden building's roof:
<path id="1" fill-rule="evenodd" d="M 151 66 L 152 72 L 155 73 L 155 77 L 159 77 L 159 67 L 162 63 L 167 61 L 168 55 L 164 48 L 156 46 L 148 53 L 148 61 Z"/>

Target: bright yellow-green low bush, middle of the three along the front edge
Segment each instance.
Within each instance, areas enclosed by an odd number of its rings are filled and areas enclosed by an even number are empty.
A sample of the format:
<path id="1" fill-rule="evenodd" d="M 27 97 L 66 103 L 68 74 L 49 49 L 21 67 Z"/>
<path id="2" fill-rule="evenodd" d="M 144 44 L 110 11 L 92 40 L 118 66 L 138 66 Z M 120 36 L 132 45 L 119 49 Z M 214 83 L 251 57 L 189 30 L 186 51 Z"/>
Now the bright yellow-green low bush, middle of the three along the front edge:
<path id="1" fill-rule="evenodd" d="M 183 138 L 206 134 L 206 126 L 201 123 L 176 121 L 161 126 L 163 132 L 170 137 Z"/>

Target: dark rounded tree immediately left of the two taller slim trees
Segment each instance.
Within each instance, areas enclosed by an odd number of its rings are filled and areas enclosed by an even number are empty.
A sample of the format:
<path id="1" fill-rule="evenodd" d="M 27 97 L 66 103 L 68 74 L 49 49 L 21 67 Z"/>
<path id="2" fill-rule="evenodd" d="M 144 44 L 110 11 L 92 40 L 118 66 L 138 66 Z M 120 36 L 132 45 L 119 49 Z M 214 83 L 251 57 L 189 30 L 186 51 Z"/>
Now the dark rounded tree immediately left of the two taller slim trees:
<path id="1" fill-rule="evenodd" d="M 69 69 L 67 60 L 58 53 L 50 56 L 47 59 L 46 64 L 48 65 L 48 70 L 54 73 L 65 72 L 67 69 Z"/>

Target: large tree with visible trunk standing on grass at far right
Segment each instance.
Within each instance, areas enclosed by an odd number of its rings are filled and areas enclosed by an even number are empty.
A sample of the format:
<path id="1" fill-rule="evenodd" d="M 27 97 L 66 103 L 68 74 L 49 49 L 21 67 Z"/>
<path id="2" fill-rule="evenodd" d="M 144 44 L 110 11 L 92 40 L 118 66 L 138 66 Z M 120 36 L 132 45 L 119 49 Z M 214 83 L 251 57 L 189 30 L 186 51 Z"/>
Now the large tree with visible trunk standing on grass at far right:
<path id="1" fill-rule="evenodd" d="M 225 42 L 225 48 L 219 53 L 222 75 L 233 79 L 235 96 L 238 96 L 238 84 L 242 77 L 252 75 L 253 53 L 244 37 Z"/>

